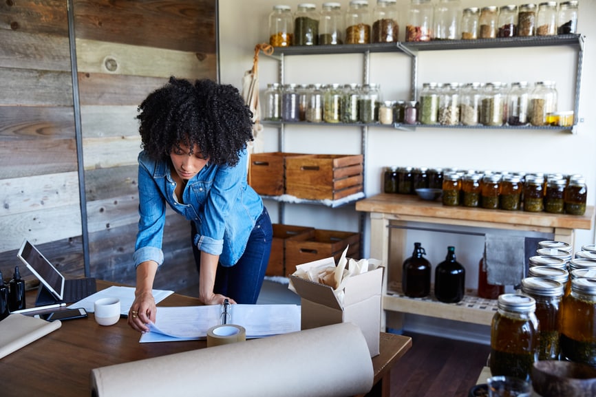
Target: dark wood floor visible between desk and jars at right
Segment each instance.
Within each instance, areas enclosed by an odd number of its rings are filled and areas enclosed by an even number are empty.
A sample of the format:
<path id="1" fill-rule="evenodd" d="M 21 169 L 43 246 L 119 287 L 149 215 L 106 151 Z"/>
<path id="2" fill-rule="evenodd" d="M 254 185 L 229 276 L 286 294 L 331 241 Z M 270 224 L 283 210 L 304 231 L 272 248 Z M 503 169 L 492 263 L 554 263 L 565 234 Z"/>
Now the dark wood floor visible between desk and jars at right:
<path id="1" fill-rule="evenodd" d="M 468 396 L 487 364 L 488 345 L 404 334 L 412 337 L 412 348 L 392 369 L 392 397 Z"/>

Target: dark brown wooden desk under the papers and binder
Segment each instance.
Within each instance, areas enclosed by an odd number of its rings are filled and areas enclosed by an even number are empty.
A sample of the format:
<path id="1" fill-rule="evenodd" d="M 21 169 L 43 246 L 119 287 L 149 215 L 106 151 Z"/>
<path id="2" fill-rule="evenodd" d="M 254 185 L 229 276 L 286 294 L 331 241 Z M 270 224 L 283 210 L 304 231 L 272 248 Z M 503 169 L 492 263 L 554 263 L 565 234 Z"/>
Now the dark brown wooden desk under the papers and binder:
<path id="1" fill-rule="evenodd" d="M 98 281 L 98 289 L 110 285 Z M 34 302 L 35 293 L 28 292 L 28 302 Z M 173 294 L 159 305 L 198 304 L 198 299 Z M 206 341 L 139 343 L 139 336 L 126 319 L 109 327 L 98 325 L 92 313 L 88 319 L 64 321 L 58 330 L 0 360 L 1 395 L 91 396 L 89 376 L 94 368 L 206 347 Z M 411 346 L 409 337 L 381 333 L 381 354 L 372 360 L 374 391 L 386 394 L 374 395 L 389 396 L 391 367 Z"/>

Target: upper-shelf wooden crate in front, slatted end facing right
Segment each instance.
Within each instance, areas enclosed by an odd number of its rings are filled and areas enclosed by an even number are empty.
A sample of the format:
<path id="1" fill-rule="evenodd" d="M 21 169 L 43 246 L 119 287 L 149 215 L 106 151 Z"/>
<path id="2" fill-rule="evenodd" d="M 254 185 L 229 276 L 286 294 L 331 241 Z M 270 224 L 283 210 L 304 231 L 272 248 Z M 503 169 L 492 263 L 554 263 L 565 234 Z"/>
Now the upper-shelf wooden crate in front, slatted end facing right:
<path id="1" fill-rule="evenodd" d="M 339 200 L 363 191 L 363 155 L 286 158 L 286 193 L 308 200 Z"/>

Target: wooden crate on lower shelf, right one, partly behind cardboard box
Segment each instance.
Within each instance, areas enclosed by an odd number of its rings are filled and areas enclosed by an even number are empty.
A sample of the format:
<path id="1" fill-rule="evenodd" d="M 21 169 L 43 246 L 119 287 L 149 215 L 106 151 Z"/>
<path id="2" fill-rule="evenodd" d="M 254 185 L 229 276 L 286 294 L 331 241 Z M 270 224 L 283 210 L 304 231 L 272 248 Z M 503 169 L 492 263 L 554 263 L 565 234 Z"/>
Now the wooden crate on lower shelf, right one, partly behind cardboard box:
<path id="1" fill-rule="evenodd" d="M 346 246 L 347 257 L 360 259 L 360 234 L 337 230 L 315 229 L 286 240 L 286 276 L 296 271 L 296 266 L 317 259 L 334 257 L 335 263 L 341 258 Z"/>

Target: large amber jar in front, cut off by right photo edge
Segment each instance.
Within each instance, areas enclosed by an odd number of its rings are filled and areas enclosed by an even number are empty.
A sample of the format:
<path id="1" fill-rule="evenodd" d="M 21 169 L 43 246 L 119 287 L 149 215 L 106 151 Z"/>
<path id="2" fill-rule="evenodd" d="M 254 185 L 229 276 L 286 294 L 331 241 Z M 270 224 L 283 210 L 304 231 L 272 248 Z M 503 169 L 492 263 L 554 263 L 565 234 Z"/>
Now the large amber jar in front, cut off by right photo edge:
<path id="1" fill-rule="evenodd" d="M 563 299 L 561 359 L 596 367 L 596 279 L 571 280 L 571 294 Z"/>

